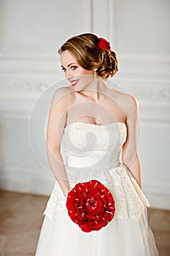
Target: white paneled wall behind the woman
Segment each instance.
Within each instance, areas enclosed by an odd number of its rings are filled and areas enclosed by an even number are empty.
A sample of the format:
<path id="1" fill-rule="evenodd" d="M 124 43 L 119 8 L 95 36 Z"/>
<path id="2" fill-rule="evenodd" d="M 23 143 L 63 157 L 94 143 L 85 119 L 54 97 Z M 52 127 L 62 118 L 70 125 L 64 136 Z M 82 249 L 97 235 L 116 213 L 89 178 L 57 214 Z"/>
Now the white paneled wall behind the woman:
<path id="1" fill-rule="evenodd" d="M 106 37 L 117 53 L 119 72 L 112 80 L 139 100 L 144 192 L 152 207 L 170 208 L 169 0 L 0 3 L 1 189 L 50 195 L 55 180 L 44 170 L 40 138 L 39 155 L 31 151 L 30 113 L 39 99 L 34 116 L 38 130 L 47 115 L 42 92 L 63 80 L 58 47 L 73 35 L 92 31 Z"/>

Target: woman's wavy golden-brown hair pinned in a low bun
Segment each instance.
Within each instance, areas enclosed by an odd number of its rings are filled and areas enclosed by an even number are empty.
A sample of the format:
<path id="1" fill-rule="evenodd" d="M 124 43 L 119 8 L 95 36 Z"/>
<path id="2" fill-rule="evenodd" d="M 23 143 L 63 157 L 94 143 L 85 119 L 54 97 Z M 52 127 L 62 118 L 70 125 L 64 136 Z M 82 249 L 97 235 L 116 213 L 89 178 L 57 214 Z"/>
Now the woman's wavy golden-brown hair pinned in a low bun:
<path id="1" fill-rule="evenodd" d="M 88 70 L 97 69 L 97 75 L 107 80 L 118 71 L 117 56 L 113 51 L 101 50 L 98 42 L 99 38 L 95 34 L 80 34 L 68 39 L 58 53 L 69 50 L 81 67 Z"/>

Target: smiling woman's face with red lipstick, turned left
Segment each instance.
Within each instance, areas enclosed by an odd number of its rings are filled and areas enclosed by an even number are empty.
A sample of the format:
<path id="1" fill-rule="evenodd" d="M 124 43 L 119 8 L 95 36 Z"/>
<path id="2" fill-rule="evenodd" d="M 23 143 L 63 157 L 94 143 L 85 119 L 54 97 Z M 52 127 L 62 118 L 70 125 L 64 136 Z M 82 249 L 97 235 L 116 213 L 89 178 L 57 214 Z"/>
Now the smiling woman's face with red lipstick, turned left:
<path id="1" fill-rule="evenodd" d="M 93 80 L 94 71 L 80 66 L 69 50 L 64 50 L 61 53 L 61 67 L 65 72 L 66 79 L 72 83 L 75 91 L 85 89 L 85 86 Z"/>

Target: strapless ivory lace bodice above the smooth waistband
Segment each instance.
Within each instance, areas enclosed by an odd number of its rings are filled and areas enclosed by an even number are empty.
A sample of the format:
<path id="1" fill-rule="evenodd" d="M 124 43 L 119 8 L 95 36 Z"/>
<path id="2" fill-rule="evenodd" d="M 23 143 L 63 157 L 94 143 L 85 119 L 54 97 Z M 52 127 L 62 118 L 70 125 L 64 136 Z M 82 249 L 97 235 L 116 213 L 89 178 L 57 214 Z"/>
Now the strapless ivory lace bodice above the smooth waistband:
<path id="1" fill-rule="evenodd" d="M 101 157 L 105 153 L 115 154 L 125 142 L 126 129 L 125 124 L 121 122 L 104 125 L 85 122 L 69 124 L 64 129 L 66 154 L 88 157 Z"/>

